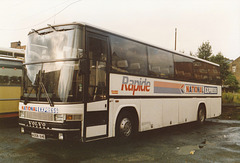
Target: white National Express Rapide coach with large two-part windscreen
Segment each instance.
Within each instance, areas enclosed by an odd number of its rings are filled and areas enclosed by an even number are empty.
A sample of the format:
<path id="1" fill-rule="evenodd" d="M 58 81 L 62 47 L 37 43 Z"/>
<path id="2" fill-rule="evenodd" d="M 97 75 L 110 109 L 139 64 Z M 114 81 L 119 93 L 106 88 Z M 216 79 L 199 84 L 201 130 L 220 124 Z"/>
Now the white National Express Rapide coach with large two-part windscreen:
<path id="1" fill-rule="evenodd" d="M 219 65 L 83 23 L 32 30 L 21 133 L 83 142 L 221 114 Z"/>

